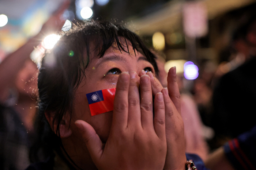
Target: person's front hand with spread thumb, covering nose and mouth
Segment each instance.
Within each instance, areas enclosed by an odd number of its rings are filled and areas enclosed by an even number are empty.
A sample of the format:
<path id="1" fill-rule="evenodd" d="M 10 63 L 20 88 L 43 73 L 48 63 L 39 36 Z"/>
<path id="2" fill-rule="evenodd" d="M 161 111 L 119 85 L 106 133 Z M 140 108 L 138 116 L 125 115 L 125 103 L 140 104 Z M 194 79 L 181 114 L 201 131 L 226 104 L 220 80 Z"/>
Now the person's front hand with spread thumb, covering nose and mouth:
<path id="1" fill-rule="evenodd" d="M 166 157 L 165 104 L 161 92 L 153 100 L 150 77 L 120 74 L 114 99 L 109 138 L 103 144 L 93 127 L 83 120 L 76 125 L 99 170 L 162 170 Z"/>

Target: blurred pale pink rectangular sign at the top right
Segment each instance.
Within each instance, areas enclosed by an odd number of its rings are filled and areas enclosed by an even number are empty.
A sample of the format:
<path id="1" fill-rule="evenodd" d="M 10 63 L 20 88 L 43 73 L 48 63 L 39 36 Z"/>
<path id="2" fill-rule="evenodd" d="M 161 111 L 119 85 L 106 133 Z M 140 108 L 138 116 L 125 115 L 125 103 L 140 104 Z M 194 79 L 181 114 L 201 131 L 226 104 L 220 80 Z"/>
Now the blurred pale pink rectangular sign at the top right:
<path id="1" fill-rule="evenodd" d="M 183 28 L 191 38 L 204 36 L 208 32 L 207 8 L 202 2 L 189 1 L 183 6 Z"/>

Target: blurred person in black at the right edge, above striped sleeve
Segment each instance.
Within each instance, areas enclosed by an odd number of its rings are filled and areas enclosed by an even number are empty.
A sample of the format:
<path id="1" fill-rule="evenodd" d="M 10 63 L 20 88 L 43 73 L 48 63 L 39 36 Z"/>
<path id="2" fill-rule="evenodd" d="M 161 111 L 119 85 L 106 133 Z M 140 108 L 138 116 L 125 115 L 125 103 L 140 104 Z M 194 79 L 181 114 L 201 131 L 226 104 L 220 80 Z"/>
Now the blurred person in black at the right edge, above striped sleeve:
<path id="1" fill-rule="evenodd" d="M 216 83 L 213 92 L 212 128 L 219 146 L 255 126 L 252 119 L 256 102 L 256 15 L 253 13 L 236 29 L 232 46 L 244 63 L 234 66 Z M 248 9 L 249 11 L 249 9 Z M 248 12 L 246 11 L 246 12 Z M 237 57 L 236 57 L 237 58 Z"/>

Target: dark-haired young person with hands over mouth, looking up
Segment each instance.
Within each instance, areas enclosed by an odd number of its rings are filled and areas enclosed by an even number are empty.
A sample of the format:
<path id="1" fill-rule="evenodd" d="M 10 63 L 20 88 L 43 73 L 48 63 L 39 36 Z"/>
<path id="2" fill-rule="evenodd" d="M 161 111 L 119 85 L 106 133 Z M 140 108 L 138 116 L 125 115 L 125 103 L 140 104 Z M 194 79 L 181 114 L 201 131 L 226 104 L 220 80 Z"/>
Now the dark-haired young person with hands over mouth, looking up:
<path id="1" fill-rule="evenodd" d="M 28 169 L 184 170 L 176 69 L 168 73 L 168 88 L 157 73 L 155 56 L 128 29 L 93 20 L 74 25 L 42 61 L 44 121 L 34 158 L 49 157 Z M 112 88 L 113 111 L 92 116 L 86 94 Z"/>

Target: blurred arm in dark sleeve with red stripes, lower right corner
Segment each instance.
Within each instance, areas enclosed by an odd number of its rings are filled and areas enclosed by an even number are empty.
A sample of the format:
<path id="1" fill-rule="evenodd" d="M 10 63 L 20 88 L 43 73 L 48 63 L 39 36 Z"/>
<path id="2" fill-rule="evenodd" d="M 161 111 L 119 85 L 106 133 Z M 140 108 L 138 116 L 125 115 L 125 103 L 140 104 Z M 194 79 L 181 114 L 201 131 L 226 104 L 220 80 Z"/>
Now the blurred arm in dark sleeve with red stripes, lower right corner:
<path id="1" fill-rule="evenodd" d="M 211 170 L 255 170 L 256 126 L 211 153 L 205 165 Z"/>

